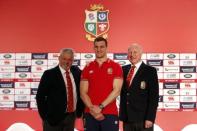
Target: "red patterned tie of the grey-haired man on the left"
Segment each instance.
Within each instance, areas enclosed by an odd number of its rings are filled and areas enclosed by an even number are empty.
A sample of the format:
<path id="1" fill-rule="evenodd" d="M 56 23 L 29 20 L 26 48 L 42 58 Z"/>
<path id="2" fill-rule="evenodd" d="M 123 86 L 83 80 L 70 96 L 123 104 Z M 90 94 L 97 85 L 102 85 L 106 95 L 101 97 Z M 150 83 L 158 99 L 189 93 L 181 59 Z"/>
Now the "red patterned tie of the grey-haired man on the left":
<path id="1" fill-rule="evenodd" d="M 74 107 L 73 107 L 73 86 L 72 86 L 72 82 L 71 82 L 71 78 L 70 78 L 70 73 L 68 71 L 66 71 L 66 81 L 67 81 L 67 95 L 68 95 L 68 99 L 67 99 L 67 112 L 73 112 L 74 111 Z"/>

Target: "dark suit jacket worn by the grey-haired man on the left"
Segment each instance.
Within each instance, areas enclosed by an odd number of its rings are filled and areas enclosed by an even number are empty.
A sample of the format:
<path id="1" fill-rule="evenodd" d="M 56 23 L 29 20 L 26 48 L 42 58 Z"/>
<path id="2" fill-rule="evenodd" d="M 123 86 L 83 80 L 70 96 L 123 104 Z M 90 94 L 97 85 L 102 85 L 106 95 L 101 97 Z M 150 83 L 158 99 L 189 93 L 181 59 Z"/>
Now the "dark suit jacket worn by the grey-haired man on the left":
<path id="1" fill-rule="evenodd" d="M 70 70 L 77 88 L 76 114 L 80 117 L 84 109 L 79 94 L 81 70 L 77 66 L 72 66 Z M 51 125 L 56 125 L 66 117 L 66 87 L 59 66 L 44 72 L 38 87 L 36 101 L 43 121 L 47 120 Z"/>

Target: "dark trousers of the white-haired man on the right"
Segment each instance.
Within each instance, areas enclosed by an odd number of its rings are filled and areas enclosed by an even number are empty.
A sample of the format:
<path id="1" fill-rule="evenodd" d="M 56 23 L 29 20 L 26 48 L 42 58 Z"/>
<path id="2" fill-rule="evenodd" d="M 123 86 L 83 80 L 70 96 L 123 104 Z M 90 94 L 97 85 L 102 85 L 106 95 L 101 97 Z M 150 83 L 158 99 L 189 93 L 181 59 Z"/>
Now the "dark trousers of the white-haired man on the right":
<path id="1" fill-rule="evenodd" d="M 123 131 L 153 131 L 153 127 L 145 128 L 144 122 L 123 122 Z"/>

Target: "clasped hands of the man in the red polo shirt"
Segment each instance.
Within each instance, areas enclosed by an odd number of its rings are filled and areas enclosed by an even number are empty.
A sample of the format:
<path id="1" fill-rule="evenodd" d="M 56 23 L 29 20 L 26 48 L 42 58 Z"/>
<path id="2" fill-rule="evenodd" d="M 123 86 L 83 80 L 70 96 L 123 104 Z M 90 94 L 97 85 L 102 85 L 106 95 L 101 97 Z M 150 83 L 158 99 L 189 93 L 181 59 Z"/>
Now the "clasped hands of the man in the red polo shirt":
<path id="1" fill-rule="evenodd" d="M 98 105 L 93 105 L 90 108 L 90 114 L 98 121 L 104 120 L 105 116 L 102 114 L 102 110 Z"/>

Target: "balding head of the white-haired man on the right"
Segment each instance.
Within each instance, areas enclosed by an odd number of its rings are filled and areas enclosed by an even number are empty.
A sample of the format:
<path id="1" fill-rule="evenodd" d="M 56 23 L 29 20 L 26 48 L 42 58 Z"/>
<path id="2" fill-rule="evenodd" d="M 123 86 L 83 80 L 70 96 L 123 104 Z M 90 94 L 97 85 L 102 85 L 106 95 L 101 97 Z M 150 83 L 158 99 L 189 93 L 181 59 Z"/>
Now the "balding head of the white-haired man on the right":
<path id="1" fill-rule="evenodd" d="M 133 43 L 131 44 L 131 46 L 129 46 L 128 48 L 128 59 L 129 61 L 135 65 L 138 62 L 141 61 L 141 57 L 142 57 L 142 47 L 141 45 L 137 44 L 137 43 Z"/>

